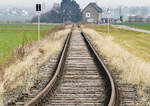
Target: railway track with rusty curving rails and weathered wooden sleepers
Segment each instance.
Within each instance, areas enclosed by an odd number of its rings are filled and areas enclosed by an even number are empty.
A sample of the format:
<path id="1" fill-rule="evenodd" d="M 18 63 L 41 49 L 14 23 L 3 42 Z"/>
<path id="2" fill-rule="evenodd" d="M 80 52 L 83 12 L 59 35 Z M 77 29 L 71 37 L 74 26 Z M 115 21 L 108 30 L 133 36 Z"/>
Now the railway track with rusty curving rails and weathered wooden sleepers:
<path id="1" fill-rule="evenodd" d="M 83 32 L 68 34 L 47 86 L 25 106 L 119 106 L 118 89 Z"/>

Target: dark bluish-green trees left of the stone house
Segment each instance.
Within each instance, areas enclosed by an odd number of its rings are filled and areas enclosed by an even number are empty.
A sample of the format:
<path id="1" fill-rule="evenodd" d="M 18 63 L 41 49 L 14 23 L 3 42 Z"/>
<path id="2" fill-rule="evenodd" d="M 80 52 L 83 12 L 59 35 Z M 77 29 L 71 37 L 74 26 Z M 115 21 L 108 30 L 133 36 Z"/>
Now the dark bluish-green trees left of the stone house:
<path id="1" fill-rule="evenodd" d="M 53 8 L 40 17 L 41 22 L 46 23 L 79 22 L 81 19 L 81 9 L 75 0 L 62 0 L 59 8 Z M 32 22 L 37 22 L 37 20 L 37 16 L 32 18 Z"/>

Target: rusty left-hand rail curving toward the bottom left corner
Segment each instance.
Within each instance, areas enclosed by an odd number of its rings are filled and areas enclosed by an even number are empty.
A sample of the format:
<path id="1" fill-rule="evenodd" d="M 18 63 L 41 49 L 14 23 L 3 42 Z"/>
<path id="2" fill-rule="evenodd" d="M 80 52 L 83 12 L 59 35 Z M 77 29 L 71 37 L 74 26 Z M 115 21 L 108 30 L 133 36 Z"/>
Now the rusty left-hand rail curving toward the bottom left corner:
<path id="1" fill-rule="evenodd" d="M 51 81 L 47 84 L 47 86 L 37 96 L 35 96 L 31 101 L 29 101 L 27 104 L 25 104 L 25 106 L 39 105 L 40 102 L 42 101 L 43 96 L 46 96 L 46 94 L 50 90 L 52 90 L 53 86 L 55 85 L 55 83 L 59 79 L 59 75 L 61 74 L 61 70 L 63 70 L 64 61 L 66 59 L 67 50 L 68 50 L 71 35 L 72 35 L 72 31 L 68 34 L 68 37 L 66 39 L 66 42 L 65 42 L 65 45 L 63 48 L 63 51 L 62 51 L 61 56 L 60 56 L 60 60 L 59 60 L 56 72 L 55 72 L 54 76 L 52 77 Z"/>

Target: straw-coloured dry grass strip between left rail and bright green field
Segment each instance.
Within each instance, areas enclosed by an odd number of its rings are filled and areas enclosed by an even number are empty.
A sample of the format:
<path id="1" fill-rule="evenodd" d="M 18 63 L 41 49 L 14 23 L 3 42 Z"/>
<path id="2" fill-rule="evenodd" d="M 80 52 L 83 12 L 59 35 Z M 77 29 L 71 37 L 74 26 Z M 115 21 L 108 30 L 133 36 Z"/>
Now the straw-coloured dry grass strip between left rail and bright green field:
<path id="1" fill-rule="evenodd" d="M 9 92 L 18 88 L 21 88 L 26 84 L 28 90 L 33 82 L 24 83 L 26 77 L 34 78 L 37 73 L 37 68 L 41 65 L 48 57 L 59 53 L 63 47 L 66 35 L 70 29 L 63 29 L 62 27 L 57 28 L 54 31 L 50 31 L 48 36 L 41 39 L 40 42 L 33 42 L 26 44 L 22 47 L 17 48 L 11 61 L 5 64 L 1 71 L 2 79 L 0 81 L 0 97 L 5 92 Z M 25 51 L 16 54 L 18 51 Z M 23 55 L 22 55 L 23 53 Z M 18 56 L 21 59 L 18 58 Z M 2 100 L 2 98 L 0 98 Z"/>

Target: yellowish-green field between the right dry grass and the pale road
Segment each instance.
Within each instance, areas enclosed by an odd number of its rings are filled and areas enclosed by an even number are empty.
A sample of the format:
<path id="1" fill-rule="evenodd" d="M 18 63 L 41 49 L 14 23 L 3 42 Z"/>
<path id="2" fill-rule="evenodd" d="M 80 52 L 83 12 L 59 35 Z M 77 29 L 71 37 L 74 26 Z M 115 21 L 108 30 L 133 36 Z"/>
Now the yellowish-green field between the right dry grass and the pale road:
<path id="1" fill-rule="evenodd" d="M 88 27 L 95 29 L 104 36 L 108 36 L 106 26 L 90 25 Z M 110 34 L 114 38 L 113 41 L 119 43 L 121 47 L 150 62 L 150 34 L 112 27 L 110 28 Z"/>

